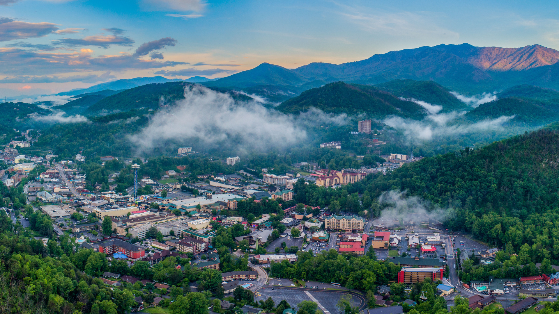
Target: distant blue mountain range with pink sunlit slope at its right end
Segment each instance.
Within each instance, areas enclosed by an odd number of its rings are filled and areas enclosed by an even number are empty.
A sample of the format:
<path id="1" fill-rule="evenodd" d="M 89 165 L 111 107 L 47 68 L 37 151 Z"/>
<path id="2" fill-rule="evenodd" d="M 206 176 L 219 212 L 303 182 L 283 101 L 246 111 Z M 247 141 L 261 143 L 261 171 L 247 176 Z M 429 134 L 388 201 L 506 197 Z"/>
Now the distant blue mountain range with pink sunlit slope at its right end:
<path id="1" fill-rule="evenodd" d="M 518 84 L 559 88 L 557 61 L 559 51 L 541 45 L 520 48 L 438 45 L 390 51 L 343 64 L 310 63 L 296 69 L 262 63 L 254 69 L 202 84 L 246 88 L 300 86 L 316 80 L 378 84 L 414 79 L 433 80 L 455 91 L 475 94 Z"/>

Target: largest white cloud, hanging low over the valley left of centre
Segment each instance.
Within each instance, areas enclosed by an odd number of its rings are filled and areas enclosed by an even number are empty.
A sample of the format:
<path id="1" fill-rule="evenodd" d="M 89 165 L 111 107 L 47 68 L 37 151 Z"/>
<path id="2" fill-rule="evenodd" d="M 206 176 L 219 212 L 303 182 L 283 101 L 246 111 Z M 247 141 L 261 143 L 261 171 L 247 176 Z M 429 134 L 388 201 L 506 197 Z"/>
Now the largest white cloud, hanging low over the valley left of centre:
<path id="1" fill-rule="evenodd" d="M 140 134 L 131 137 L 140 151 L 169 141 L 267 150 L 306 138 L 306 132 L 291 116 L 268 110 L 257 102 L 235 102 L 229 94 L 201 85 L 185 87 L 184 97 L 172 111 L 156 113 Z"/>

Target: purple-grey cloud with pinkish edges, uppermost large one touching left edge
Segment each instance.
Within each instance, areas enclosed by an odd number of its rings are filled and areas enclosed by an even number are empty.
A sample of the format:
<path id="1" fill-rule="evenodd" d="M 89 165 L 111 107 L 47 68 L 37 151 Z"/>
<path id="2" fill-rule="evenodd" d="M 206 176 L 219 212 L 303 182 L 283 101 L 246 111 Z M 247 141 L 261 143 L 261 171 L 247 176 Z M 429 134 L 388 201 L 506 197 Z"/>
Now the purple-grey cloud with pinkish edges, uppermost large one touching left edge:
<path id="1" fill-rule="evenodd" d="M 0 41 L 43 37 L 57 31 L 55 23 L 28 23 L 0 17 Z"/>

